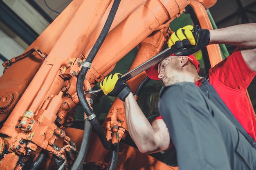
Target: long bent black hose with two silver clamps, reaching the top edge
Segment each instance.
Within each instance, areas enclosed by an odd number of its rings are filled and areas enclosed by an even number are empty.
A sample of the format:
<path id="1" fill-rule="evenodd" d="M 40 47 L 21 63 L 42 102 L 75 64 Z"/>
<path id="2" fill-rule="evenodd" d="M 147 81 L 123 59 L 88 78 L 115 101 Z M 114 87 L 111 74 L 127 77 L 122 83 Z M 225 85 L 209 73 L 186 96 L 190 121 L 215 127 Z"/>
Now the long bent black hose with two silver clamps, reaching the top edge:
<path id="1" fill-rule="evenodd" d="M 110 26 L 115 18 L 115 14 L 117 12 L 118 6 L 119 6 L 120 0 L 115 0 L 110 13 L 108 15 L 108 19 L 99 35 L 99 38 L 95 42 L 94 46 L 92 47 L 92 50 L 90 51 L 88 57 L 86 58 L 86 63 L 92 63 L 92 60 L 94 59 L 95 55 L 99 51 L 99 48 L 101 47 L 101 44 L 105 40 L 108 31 L 110 29 Z M 103 132 L 103 129 L 101 127 L 101 124 L 99 123 L 99 120 L 95 116 L 95 114 L 92 112 L 92 109 L 90 108 L 88 102 L 85 99 L 84 91 L 83 91 L 83 82 L 85 79 L 85 75 L 88 71 L 89 67 L 83 66 L 81 68 L 81 71 L 78 75 L 77 82 L 76 82 L 76 93 L 79 98 L 79 102 L 81 106 L 83 107 L 83 110 L 85 111 L 86 115 L 88 116 L 92 126 L 95 128 L 99 139 L 101 140 L 102 145 L 107 150 L 111 150 L 111 145 L 108 143 L 105 133 Z"/>

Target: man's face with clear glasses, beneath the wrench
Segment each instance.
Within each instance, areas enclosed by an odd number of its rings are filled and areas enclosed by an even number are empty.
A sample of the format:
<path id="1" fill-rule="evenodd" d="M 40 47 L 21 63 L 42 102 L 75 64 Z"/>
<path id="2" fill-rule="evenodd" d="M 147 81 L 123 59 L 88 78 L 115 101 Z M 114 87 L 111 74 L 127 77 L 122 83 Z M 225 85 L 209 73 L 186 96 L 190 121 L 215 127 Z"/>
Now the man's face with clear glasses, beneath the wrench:
<path id="1" fill-rule="evenodd" d="M 162 79 L 165 86 L 180 82 L 179 60 L 181 56 L 171 56 L 158 64 L 158 78 Z"/>

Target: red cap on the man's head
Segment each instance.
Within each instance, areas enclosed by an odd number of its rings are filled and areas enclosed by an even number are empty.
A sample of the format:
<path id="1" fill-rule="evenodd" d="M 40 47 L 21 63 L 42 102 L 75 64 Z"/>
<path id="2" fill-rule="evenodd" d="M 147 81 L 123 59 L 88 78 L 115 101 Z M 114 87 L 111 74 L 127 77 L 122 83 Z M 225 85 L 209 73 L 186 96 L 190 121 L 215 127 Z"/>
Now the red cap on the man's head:
<path id="1" fill-rule="evenodd" d="M 176 56 L 175 54 L 172 54 L 173 56 Z M 200 69 L 200 63 L 198 62 L 198 60 L 195 59 L 194 55 L 188 55 L 188 60 L 195 66 L 196 70 L 198 71 L 199 73 L 199 69 Z M 160 63 L 160 62 L 159 62 Z M 158 64 L 155 64 L 153 66 L 151 66 L 150 68 L 146 69 L 145 72 L 146 72 L 146 75 L 150 78 L 150 79 L 153 79 L 153 80 L 160 80 L 158 78 Z"/>

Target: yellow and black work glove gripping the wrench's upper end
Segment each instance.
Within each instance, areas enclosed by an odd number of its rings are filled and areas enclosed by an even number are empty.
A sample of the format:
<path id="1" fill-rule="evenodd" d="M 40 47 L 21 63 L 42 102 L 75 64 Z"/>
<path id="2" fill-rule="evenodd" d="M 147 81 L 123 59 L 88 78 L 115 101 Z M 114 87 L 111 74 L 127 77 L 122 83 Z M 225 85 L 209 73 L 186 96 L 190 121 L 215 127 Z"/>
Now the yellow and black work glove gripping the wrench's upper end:
<path id="1" fill-rule="evenodd" d="M 175 51 L 175 55 L 191 55 L 206 47 L 209 41 L 208 29 L 200 29 L 198 25 L 187 25 L 171 34 L 168 46 Z"/>

